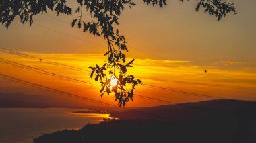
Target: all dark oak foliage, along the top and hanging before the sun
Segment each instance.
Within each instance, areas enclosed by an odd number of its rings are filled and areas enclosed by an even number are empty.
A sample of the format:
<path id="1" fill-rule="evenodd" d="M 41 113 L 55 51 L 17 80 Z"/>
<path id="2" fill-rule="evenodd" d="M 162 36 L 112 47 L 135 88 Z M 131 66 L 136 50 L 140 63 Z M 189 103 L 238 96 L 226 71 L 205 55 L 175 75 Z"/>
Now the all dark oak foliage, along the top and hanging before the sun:
<path id="1" fill-rule="evenodd" d="M 146 4 L 164 7 L 166 0 L 143 0 Z M 183 0 L 180 0 L 183 2 Z M 75 15 L 77 17 L 71 22 L 71 26 L 77 26 L 82 32 L 89 32 L 95 36 L 103 36 L 108 42 L 108 61 L 102 66 L 98 64 L 92 69 L 90 77 L 95 81 L 100 81 L 102 88 L 101 96 L 104 93 L 115 94 L 115 100 L 119 107 L 125 106 L 129 101 L 133 101 L 133 90 L 137 85 L 142 85 L 141 80 L 133 75 L 127 74 L 127 68 L 132 67 L 134 59 L 127 62 L 125 52 L 128 52 L 125 36 L 121 35 L 115 25 L 119 24 L 119 17 L 125 7 L 133 7 L 131 0 L 77 0 L 76 9 L 71 9 L 65 0 L 20 0 L 0 1 L 0 22 L 9 28 L 16 17 L 20 22 L 32 25 L 34 15 L 55 11 L 57 15 Z M 222 2 L 221 0 L 200 0 L 195 8 L 196 11 L 204 9 L 205 13 L 215 16 L 218 21 L 226 17 L 228 13 L 236 13 L 233 3 Z M 83 11 L 90 15 L 88 19 L 83 17 Z M 113 84 L 115 83 L 115 84 Z"/>

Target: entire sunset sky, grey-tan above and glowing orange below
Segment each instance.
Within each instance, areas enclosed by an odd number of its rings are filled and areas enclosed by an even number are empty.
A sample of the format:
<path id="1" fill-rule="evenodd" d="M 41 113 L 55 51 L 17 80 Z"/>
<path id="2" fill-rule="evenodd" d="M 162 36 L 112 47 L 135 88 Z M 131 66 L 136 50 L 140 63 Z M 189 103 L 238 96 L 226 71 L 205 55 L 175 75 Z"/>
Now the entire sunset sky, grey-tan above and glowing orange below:
<path id="1" fill-rule="evenodd" d="M 222 21 L 217 21 L 203 11 L 195 12 L 197 1 L 168 1 L 168 5 L 162 9 L 136 1 L 137 5 L 132 9 L 127 7 L 120 17 L 118 28 L 128 41 L 129 58 L 135 58 L 134 67 L 129 69 L 129 73 L 149 85 L 255 101 L 256 1 L 232 2 L 238 14 L 228 15 Z M 74 3 L 71 5 L 75 7 Z M 82 33 L 78 28 L 71 28 L 71 21 L 76 17 L 77 15 L 57 17 L 50 12 L 34 17 L 32 26 L 22 25 L 16 19 L 8 30 L 0 26 L 0 47 L 86 70 L 89 70 L 89 66 L 103 64 L 106 41 L 101 37 Z M 94 79 L 90 79 L 90 73 L 87 72 L 60 68 L 1 51 L 0 57 L 99 85 Z M 1 74 L 117 104 L 111 95 L 100 97 L 100 85 L 97 88 L 65 81 L 1 61 L 3 60 L 0 60 Z M 4 79 L 0 79 L 0 91 L 55 95 Z M 137 87 L 135 94 L 176 103 L 211 99 L 147 85 Z M 135 95 L 135 101 L 129 102 L 127 106 L 160 104 Z"/>

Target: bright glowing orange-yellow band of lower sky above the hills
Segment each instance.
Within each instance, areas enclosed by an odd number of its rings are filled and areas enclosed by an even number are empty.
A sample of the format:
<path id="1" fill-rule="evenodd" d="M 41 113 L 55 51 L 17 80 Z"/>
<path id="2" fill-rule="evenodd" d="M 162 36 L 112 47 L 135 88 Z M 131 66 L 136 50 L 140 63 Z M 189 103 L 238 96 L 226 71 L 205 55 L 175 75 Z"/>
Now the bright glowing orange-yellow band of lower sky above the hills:
<path id="1" fill-rule="evenodd" d="M 86 70 L 89 70 L 88 66 L 90 65 L 93 66 L 94 64 L 103 63 L 102 55 L 98 54 L 27 54 Z M 30 60 L 28 58 L 13 56 L 10 54 L 1 54 L 1 58 L 40 68 L 42 70 L 47 70 L 51 73 L 98 84 L 98 88 L 84 83 L 65 81 L 64 79 L 58 79 L 57 77 L 42 75 L 34 71 L 0 63 L 0 73 L 4 73 L 5 75 L 60 89 L 69 93 L 82 95 L 84 97 L 117 104 L 114 101 L 113 95 L 105 95 L 103 98 L 100 97 L 100 85 L 99 83 L 95 83 L 94 79 L 90 79 L 89 73 L 53 66 L 40 61 Z M 221 68 L 222 66 L 234 66 L 234 64 L 239 63 L 223 61 L 220 63 L 214 63 L 211 67 L 206 68 L 204 66 L 197 66 L 191 61 L 136 59 L 135 64 L 129 73 L 141 79 L 143 83 L 150 85 L 170 87 L 181 91 L 231 99 L 256 100 L 256 97 L 254 96 L 256 93 L 256 73 L 250 70 L 226 70 Z M 204 72 L 205 69 L 207 70 L 207 73 Z M 0 87 L 3 92 L 8 92 L 12 89 L 12 91 L 15 92 L 20 91 L 28 94 L 40 93 L 55 95 L 49 91 L 34 89 L 34 87 L 20 85 L 13 83 L 12 81 L 0 80 Z M 135 94 L 136 93 L 177 103 L 211 99 L 160 90 L 148 87 L 147 85 L 137 87 Z M 161 103 L 154 101 L 136 98 L 135 95 L 135 101 L 133 103 L 129 102 L 127 105 L 133 107 L 160 104 Z"/>

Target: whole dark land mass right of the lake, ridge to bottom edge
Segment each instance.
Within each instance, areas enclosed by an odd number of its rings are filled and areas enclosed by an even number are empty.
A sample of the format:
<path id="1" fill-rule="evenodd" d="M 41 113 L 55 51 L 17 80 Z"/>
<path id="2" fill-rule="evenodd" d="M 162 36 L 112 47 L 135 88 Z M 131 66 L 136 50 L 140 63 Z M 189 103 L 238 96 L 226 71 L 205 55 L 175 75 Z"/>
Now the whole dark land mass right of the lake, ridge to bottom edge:
<path id="1" fill-rule="evenodd" d="M 44 134 L 34 139 L 34 143 L 256 142 L 255 102 L 214 100 L 135 110 L 141 112 L 113 111 L 111 115 L 123 120 L 88 124 L 80 130 Z M 144 112 L 147 115 L 143 115 Z"/>

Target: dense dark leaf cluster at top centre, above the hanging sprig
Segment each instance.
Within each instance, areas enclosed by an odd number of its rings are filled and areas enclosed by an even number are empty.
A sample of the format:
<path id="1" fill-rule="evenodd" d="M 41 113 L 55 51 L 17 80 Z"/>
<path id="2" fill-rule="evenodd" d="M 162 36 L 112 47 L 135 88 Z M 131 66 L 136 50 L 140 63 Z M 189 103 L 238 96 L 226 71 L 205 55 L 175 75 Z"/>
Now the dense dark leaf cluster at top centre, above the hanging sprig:
<path id="1" fill-rule="evenodd" d="M 121 11 L 125 6 L 132 7 L 135 3 L 131 0 L 78 0 L 79 6 L 76 9 L 81 15 L 74 19 L 72 26 L 77 23 L 78 28 L 82 28 L 83 32 L 90 32 L 96 36 L 104 36 L 104 38 L 115 38 L 113 25 L 119 24 L 118 19 Z M 90 13 L 90 19 L 84 21 L 82 19 L 82 9 L 86 9 Z"/>

